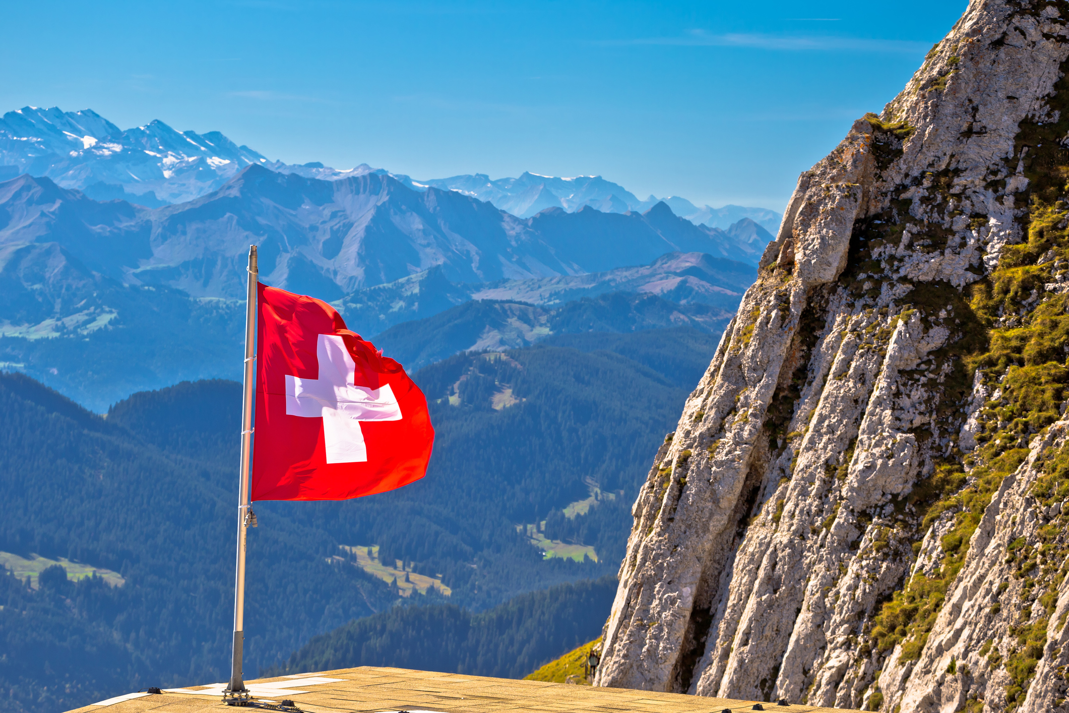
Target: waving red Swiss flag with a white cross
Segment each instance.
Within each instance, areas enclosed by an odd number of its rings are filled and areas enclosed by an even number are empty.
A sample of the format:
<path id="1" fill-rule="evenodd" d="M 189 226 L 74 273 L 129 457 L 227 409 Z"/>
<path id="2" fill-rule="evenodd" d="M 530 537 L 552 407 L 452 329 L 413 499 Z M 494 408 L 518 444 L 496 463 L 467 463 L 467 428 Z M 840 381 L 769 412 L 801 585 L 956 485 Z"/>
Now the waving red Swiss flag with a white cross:
<path id="1" fill-rule="evenodd" d="M 434 429 L 404 369 L 313 297 L 259 285 L 253 500 L 344 500 L 427 471 Z"/>

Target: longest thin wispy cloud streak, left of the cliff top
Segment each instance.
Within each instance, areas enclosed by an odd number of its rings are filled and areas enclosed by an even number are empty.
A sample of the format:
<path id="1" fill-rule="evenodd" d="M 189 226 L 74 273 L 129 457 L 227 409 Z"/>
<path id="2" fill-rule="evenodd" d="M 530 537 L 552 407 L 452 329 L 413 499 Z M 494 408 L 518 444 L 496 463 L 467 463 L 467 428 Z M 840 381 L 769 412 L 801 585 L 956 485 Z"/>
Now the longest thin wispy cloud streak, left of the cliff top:
<path id="1" fill-rule="evenodd" d="M 833 35 L 800 36 L 761 33 L 729 32 L 712 34 L 704 30 L 694 30 L 676 37 L 636 37 L 633 40 L 607 40 L 602 45 L 669 45 L 678 47 L 746 47 L 775 51 L 848 51 L 907 53 L 925 52 L 931 43 L 910 40 L 871 40 L 865 37 L 840 37 Z"/>

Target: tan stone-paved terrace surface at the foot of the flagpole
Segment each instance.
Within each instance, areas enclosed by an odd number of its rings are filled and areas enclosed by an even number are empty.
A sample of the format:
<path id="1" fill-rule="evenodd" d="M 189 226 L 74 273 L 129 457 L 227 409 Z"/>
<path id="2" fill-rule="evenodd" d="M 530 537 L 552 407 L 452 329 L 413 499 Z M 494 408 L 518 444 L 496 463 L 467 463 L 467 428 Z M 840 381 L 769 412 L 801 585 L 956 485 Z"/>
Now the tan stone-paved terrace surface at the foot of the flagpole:
<path id="1" fill-rule="evenodd" d="M 71 713 L 223 713 L 236 711 L 222 703 L 216 683 L 168 688 L 162 694 L 131 693 L 102 700 Z M 593 688 L 542 681 L 491 679 L 481 676 L 413 671 L 404 668 L 342 668 L 248 681 L 252 696 L 264 702 L 293 700 L 308 713 L 358 711 L 438 711 L 441 713 L 722 713 L 723 711 L 845 711 L 841 708 L 777 706 L 755 700 L 728 700 L 672 693 Z M 255 709 L 249 709 L 255 710 Z"/>

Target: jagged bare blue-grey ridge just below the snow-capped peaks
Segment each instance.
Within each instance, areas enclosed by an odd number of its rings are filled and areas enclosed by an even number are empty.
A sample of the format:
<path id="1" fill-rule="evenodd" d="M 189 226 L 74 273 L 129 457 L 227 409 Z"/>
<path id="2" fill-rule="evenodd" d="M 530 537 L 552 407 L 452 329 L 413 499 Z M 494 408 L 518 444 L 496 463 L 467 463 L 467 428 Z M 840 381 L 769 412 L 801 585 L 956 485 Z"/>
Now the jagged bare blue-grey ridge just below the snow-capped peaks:
<path id="1" fill-rule="evenodd" d="M 126 284 L 193 297 L 245 293 L 250 244 L 268 284 L 338 299 L 440 266 L 454 282 L 559 277 L 704 252 L 755 264 L 771 236 L 695 226 L 659 203 L 645 214 L 554 208 L 521 219 L 462 193 L 416 192 L 377 174 L 321 181 L 249 166 L 187 203 L 97 202 L 49 179 L 0 183 L 0 249 L 53 244 Z"/>

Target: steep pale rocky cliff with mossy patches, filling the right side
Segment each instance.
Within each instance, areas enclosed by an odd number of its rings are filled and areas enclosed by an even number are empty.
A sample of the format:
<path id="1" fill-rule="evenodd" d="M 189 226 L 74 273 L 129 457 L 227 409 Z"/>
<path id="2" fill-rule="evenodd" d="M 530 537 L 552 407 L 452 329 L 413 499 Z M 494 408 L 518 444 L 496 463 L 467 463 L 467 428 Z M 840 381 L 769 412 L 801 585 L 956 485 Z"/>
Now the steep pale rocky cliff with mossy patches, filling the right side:
<path id="1" fill-rule="evenodd" d="M 598 684 L 1069 710 L 1067 19 L 974 0 L 802 174 L 634 506 Z"/>

